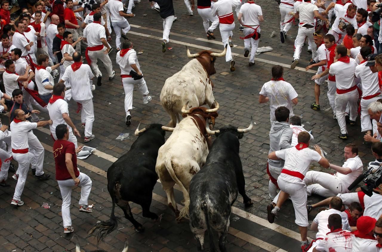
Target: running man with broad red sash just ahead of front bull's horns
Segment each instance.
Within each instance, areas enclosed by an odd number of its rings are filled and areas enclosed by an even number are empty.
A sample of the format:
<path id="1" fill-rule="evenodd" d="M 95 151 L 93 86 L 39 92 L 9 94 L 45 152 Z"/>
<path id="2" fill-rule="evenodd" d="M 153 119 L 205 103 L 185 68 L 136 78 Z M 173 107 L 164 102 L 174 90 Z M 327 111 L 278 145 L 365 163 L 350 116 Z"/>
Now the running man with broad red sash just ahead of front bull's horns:
<path id="1" fill-rule="evenodd" d="M 233 47 L 231 37 L 233 36 L 233 29 L 235 29 L 235 20 L 233 19 L 232 8 L 236 8 L 240 1 L 232 0 L 212 0 L 215 2 L 212 7 L 212 15 L 219 17 L 219 29 L 222 35 L 223 47 L 227 47 L 225 53 L 225 61 L 230 61 L 230 71 L 235 71 L 235 60 L 232 59 L 231 47 Z"/>

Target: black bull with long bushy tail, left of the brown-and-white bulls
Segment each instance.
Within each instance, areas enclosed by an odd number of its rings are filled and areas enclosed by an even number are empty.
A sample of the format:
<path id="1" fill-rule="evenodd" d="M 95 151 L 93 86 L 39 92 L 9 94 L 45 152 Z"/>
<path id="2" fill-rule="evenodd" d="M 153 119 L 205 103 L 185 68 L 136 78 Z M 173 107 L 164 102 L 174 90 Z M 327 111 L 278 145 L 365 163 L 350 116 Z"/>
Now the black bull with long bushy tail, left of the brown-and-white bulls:
<path id="1" fill-rule="evenodd" d="M 150 212 L 152 190 L 157 183 L 155 163 L 158 150 L 165 143 L 165 131 L 172 132 L 173 128 L 161 124 L 150 124 L 146 128 L 135 131 L 137 140 L 131 145 L 130 150 L 119 158 L 107 170 L 107 190 L 112 198 L 113 207 L 109 221 L 97 223 L 89 234 L 99 229 L 98 241 L 117 228 L 117 218 L 114 215 L 115 204 L 125 213 L 126 219 L 133 223 L 136 231 L 144 231 L 138 221 L 134 220 L 129 206 L 132 201 L 142 207 L 143 217 L 153 220 L 158 215 Z"/>

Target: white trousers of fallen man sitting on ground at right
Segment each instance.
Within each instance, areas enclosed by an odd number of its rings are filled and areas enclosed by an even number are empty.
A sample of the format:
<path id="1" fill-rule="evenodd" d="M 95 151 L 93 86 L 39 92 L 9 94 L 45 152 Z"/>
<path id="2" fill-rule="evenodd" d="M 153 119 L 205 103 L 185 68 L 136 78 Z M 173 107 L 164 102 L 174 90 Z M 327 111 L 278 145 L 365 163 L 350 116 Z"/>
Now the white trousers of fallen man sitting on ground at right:
<path id="1" fill-rule="evenodd" d="M 346 185 L 343 184 L 340 178 L 325 172 L 308 171 L 304 182 L 306 184 L 315 183 L 308 186 L 308 196 L 317 194 L 329 198 L 347 192 Z"/>

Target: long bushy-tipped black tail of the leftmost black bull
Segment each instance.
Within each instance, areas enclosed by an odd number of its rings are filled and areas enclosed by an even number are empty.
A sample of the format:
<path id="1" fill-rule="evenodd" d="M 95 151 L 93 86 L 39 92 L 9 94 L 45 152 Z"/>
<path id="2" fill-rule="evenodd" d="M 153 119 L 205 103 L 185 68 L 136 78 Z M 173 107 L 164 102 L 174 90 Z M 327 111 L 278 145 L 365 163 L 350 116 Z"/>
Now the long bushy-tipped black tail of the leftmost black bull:
<path id="1" fill-rule="evenodd" d="M 92 227 L 88 232 L 88 234 L 92 234 L 94 233 L 95 230 L 99 229 L 99 232 L 97 234 L 97 242 L 101 240 L 103 241 L 108 234 L 112 233 L 118 227 L 119 218 L 114 215 L 114 209 L 115 209 L 115 191 L 114 190 L 116 190 L 115 184 L 112 190 L 110 190 L 110 196 L 112 197 L 112 203 L 113 203 L 110 220 L 100 221 L 99 223 L 95 224 L 94 227 Z"/>

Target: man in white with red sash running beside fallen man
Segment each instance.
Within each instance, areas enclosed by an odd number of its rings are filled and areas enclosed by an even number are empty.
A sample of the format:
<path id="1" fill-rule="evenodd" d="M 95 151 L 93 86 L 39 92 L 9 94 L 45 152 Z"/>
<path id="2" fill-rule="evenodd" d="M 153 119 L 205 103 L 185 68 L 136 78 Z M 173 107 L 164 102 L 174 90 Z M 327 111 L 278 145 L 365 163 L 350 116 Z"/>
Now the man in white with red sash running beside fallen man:
<path id="1" fill-rule="evenodd" d="M 295 222 L 299 226 L 301 234 L 301 246 L 308 244 L 306 237 L 309 225 L 304 176 L 312 161 L 318 162 L 324 168 L 329 168 L 329 162 L 320 155 L 321 151 L 318 145 L 314 146 L 315 150 L 309 149 L 309 139 L 309 133 L 303 131 L 298 135 L 298 144 L 295 147 L 278 150 L 268 155 L 268 158 L 273 160 L 285 160 L 284 168 L 277 179 L 281 191 L 272 201 L 272 204 L 267 206 L 268 221 L 273 223 L 275 216 L 278 216 L 278 210 L 289 194 L 295 209 Z"/>

